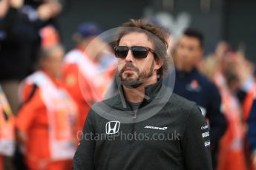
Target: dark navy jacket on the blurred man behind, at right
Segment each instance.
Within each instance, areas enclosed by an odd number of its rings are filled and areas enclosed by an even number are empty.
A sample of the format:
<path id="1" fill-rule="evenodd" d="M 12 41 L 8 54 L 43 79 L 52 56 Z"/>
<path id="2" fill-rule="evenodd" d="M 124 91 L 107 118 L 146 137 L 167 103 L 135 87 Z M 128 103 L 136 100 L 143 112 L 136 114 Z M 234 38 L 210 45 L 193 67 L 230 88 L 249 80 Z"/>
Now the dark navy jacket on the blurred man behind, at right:
<path id="1" fill-rule="evenodd" d="M 191 72 L 175 71 L 174 92 L 200 106 L 203 115 L 209 119 L 211 133 L 211 158 L 217 166 L 218 143 L 226 131 L 226 118 L 221 112 L 221 98 L 217 87 L 196 68 Z M 168 80 L 168 79 L 167 79 Z"/>

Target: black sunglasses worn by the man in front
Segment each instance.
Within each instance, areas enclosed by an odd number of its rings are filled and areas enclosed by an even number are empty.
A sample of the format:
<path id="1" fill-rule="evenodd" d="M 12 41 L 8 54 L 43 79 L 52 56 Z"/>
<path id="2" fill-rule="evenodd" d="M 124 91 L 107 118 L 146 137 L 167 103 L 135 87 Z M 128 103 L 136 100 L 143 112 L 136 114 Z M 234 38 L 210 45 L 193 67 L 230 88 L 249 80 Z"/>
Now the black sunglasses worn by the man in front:
<path id="1" fill-rule="evenodd" d="M 152 52 L 155 54 L 154 50 L 148 47 L 142 47 L 142 46 L 116 46 L 114 48 L 114 52 L 116 55 L 116 58 L 126 58 L 128 55 L 129 50 L 131 50 L 132 55 L 134 58 L 146 58 L 148 56 L 148 52 Z"/>

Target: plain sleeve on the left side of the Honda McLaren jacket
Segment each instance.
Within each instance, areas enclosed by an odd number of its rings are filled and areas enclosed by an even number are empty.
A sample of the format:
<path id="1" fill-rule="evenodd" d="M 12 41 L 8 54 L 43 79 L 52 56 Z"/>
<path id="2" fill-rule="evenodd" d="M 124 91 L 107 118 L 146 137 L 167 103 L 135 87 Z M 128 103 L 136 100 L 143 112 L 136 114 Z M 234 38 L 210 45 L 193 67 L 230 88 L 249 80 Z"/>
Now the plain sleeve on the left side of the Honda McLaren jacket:
<path id="1" fill-rule="evenodd" d="M 81 140 L 73 157 L 73 170 L 94 170 L 94 150 L 95 150 L 95 120 L 92 110 L 88 113 Z"/>

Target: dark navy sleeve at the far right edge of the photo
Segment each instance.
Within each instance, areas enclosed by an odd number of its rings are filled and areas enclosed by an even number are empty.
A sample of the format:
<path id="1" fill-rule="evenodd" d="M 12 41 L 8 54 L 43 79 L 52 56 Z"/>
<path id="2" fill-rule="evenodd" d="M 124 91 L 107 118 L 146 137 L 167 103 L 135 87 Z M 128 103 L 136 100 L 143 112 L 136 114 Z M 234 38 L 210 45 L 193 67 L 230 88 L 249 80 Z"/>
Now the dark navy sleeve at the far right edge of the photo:
<path id="1" fill-rule="evenodd" d="M 256 154 L 256 100 L 248 118 L 248 140 L 251 152 Z"/>

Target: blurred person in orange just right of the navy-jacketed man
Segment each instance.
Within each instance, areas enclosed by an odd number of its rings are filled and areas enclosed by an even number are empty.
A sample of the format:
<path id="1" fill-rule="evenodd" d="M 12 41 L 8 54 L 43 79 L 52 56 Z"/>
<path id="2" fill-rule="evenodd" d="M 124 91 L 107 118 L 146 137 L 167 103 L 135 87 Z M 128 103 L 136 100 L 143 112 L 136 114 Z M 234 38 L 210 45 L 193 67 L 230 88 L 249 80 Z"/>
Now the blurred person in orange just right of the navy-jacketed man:
<path id="1" fill-rule="evenodd" d="M 237 78 L 231 76 L 226 57 L 209 56 L 202 61 L 201 70 L 217 86 L 222 99 L 222 109 L 226 116 L 228 127 L 220 140 L 217 170 L 246 170 L 244 144 L 244 126 L 242 108 L 235 95 L 237 88 L 234 83 Z M 227 78 L 229 77 L 229 78 Z"/>

